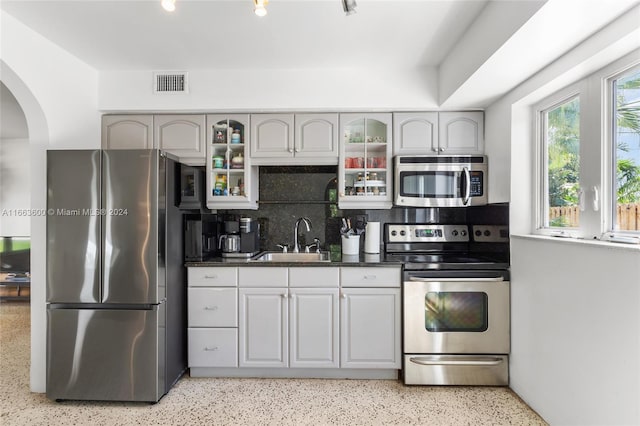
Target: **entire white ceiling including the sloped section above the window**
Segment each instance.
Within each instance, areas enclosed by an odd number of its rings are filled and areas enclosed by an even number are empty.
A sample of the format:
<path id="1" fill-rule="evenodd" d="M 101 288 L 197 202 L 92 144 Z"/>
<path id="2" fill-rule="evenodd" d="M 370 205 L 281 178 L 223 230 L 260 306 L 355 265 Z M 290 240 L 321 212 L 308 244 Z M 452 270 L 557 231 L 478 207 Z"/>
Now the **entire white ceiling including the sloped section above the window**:
<path id="1" fill-rule="evenodd" d="M 345 16 L 340 0 L 271 0 L 263 18 L 251 0 L 177 0 L 173 13 L 160 0 L 0 0 L 0 9 L 98 71 L 430 68 L 451 108 L 489 105 L 640 3 L 357 2 Z"/>

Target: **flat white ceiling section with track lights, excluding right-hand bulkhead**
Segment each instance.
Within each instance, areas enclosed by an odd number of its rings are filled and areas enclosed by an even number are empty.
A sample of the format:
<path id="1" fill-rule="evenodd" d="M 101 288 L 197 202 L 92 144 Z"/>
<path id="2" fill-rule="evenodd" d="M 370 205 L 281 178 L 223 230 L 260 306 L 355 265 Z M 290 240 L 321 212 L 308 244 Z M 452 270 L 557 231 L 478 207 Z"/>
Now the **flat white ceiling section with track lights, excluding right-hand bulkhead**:
<path id="1" fill-rule="evenodd" d="M 487 3 L 271 0 L 15 1 L 3 10 L 98 70 L 437 65 Z"/>

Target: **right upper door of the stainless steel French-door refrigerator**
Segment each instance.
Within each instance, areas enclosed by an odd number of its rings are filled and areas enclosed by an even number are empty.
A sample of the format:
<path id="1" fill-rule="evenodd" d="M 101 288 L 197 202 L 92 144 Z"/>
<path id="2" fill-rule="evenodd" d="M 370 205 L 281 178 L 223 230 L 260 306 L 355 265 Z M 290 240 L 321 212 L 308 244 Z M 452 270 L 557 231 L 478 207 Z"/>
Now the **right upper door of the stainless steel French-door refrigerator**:
<path id="1" fill-rule="evenodd" d="M 102 171 L 102 301 L 158 303 L 159 152 L 105 150 Z"/>

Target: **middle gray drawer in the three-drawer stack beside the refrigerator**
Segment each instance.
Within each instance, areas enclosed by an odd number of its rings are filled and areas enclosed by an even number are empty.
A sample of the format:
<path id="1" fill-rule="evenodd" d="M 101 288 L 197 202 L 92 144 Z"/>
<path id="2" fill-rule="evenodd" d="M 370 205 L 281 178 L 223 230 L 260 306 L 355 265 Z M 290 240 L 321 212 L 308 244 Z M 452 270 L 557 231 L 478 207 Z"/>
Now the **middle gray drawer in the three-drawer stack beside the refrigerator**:
<path id="1" fill-rule="evenodd" d="M 238 290 L 189 288 L 189 327 L 237 327 Z"/>

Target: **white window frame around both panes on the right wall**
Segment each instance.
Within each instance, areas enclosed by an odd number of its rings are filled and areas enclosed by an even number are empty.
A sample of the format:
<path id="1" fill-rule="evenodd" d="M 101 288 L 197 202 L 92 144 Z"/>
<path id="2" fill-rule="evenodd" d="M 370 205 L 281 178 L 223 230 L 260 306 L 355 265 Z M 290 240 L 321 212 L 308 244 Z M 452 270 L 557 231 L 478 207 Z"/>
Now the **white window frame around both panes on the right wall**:
<path id="1" fill-rule="evenodd" d="M 617 124 L 613 83 L 640 69 L 638 55 L 628 54 L 599 70 L 560 88 L 531 106 L 533 126 L 531 234 L 569 240 L 606 241 L 640 245 L 640 230 L 614 231 L 617 207 L 617 153 L 613 134 Z M 578 227 L 548 226 L 547 134 L 543 114 L 579 96 L 580 159 Z"/>

